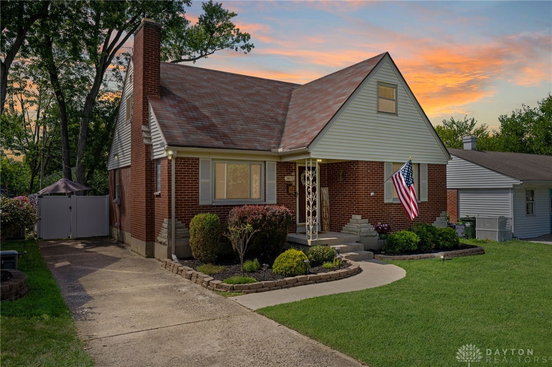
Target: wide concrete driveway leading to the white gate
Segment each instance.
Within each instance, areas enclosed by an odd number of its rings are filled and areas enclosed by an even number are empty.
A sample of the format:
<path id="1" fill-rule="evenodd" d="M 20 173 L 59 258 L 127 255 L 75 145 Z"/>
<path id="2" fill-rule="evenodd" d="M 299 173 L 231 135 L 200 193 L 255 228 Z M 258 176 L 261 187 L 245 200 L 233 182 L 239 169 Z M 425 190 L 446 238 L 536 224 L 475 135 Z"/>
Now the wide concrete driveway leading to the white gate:
<path id="1" fill-rule="evenodd" d="M 358 366 L 110 239 L 40 242 L 98 366 Z"/>

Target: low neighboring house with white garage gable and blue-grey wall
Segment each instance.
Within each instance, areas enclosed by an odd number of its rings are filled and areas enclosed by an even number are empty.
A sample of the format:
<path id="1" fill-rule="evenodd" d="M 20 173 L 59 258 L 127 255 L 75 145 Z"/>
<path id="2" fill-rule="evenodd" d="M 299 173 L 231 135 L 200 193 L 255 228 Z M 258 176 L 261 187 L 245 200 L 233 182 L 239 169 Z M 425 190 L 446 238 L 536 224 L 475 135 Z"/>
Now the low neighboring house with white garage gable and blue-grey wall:
<path id="1" fill-rule="evenodd" d="M 552 156 L 484 152 L 476 138 L 464 149 L 449 149 L 447 198 L 450 219 L 470 216 L 509 218 L 518 238 L 549 234 L 552 228 Z"/>

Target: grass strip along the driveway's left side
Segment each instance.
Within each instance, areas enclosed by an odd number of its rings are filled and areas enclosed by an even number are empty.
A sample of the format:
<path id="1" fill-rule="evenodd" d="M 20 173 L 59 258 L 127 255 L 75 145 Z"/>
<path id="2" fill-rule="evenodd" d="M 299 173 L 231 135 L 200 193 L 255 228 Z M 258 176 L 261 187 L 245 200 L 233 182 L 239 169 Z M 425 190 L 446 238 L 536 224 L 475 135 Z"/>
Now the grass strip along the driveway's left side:
<path id="1" fill-rule="evenodd" d="M 92 366 L 77 328 L 36 241 L 11 241 L 2 250 L 27 251 L 18 268 L 29 293 L 0 307 L 2 366 Z"/>

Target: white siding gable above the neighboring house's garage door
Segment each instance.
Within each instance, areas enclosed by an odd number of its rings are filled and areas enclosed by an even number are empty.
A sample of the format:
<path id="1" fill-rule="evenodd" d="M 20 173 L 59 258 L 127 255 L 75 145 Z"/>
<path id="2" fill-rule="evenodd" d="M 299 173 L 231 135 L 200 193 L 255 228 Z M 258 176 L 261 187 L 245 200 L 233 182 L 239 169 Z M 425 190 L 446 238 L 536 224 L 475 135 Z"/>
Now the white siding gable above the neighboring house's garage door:
<path id="1" fill-rule="evenodd" d="M 447 188 L 508 188 L 519 180 L 452 156 L 447 165 Z"/>

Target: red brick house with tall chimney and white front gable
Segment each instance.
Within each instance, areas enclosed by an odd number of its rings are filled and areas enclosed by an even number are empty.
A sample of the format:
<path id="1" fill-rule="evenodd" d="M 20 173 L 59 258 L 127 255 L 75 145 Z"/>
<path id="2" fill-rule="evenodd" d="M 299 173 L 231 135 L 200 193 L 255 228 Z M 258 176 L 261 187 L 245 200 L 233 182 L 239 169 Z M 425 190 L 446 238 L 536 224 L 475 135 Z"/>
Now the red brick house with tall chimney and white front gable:
<path id="1" fill-rule="evenodd" d="M 195 214 L 242 204 L 290 208 L 309 239 L 405 229 L 384 181 L 410 156 L 414 223 L 443 222 L 450 156 L 389 53 L 299 85 L 160 62 L 160 33 L 135 33 L 108 160 L 112 234 L 134 251 L 189 255 Z"/>

